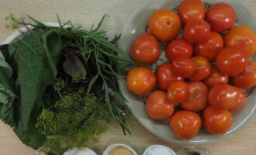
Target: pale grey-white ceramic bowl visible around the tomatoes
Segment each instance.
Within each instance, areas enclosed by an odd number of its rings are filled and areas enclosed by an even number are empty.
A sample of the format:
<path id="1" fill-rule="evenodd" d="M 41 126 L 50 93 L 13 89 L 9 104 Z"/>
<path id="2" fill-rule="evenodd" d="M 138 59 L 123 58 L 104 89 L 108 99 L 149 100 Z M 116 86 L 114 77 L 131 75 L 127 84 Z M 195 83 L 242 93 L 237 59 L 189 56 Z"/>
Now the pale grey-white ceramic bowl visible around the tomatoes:
<path id="1" fill-rule="evenodd" d="M 209 4 L 214 4 L 216 2 L 227 2 L 228 4 L 232 5 L 237 12 L 237 24 L 250 26 L 252 29 L 254 29 L 254 32 L 256 32 L 256 16 L 254 15 L 254 12 L 252 12 L 239 0 L 202 1 Z M 182 2 L 182 0 L 148 0 L 143 6 L 140 7 L 137 12 L 133 14 L 130 21 L 127 23 L 123 30 L 123 37 L 119 42 L 119 47 L 126 53 L 130 53 L 130 46 L 132 45 L 133 40 L 141 33 L 145 32 L 144 29 L 145 26 L 147 26 L 150 15 L 152 15 L 157 9 L 174 9 L 180 2 Z M 161 57 L 164 57 L 164 52 L 162 52 Z M 256 60 L 255 57 L 253 59 Z M 168 140 L 172 143 L 199 145 L 222 140 L 230 134 L 236 133 L 238 130 L 240 130 L 251 119 L 256 108 L 256 92 L 254 91 L 253 94 L 247 98 L 247 105 L 239 112 L 235 112 L 233 114 L 234 123 L 227 133 L 222 135 L 213 135 L 206 133 L 204 130 L 201 130 L 199 135 L 195 136 L 192 140 L 180 140 L 170 129 L 168 122 L 154 121 L 147 116 L 144 110 L 144 103 L 139 96 L 133 95 L 133 93 L 127 90 L 125 79 L 119 79 L 119 88 L 122 91 L 124 97 L 128 100 L 126 104 L 130 107 L 133 115 L 137 118 L 137 120 L 145 128 L 150 130 L 151 133 L 154 133 L 155 135 L 160 136 L 162 139 Z"/>

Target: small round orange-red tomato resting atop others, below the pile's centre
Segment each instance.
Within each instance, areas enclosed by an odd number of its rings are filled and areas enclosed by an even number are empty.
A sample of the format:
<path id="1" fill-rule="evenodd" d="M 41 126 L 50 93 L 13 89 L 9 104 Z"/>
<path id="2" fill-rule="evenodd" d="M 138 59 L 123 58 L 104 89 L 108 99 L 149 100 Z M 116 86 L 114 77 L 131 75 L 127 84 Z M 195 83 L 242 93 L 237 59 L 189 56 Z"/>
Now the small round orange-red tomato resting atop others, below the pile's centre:
<path id="1" fill-rule="evenodd" d="M 185 81 L 172 81 L 167 92 L 169 102 L 181 103 L 189 96 L 188 84 Z"/>

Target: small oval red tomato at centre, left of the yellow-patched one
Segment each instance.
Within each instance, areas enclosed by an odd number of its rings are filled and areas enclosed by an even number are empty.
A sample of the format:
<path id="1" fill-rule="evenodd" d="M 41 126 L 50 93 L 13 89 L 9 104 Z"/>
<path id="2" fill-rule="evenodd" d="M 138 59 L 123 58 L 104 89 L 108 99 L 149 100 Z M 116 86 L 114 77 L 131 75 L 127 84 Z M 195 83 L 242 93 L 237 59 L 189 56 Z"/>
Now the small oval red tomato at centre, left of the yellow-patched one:
<path id="1" fill-rule="evenodd" d="M 195 64 L 188 57 L 178 57 L 171 63 L 171 71 L 176 76 L 190 77 L 195 71 Z"/>

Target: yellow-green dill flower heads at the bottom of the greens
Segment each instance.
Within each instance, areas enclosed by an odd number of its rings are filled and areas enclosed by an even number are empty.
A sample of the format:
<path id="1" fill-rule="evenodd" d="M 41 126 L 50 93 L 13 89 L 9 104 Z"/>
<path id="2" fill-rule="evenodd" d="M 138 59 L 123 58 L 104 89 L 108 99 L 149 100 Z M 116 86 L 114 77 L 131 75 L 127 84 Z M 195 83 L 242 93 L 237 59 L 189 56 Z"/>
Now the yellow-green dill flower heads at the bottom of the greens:
<path id="1" fill-rule="evenodd" d="M 55 154 L 95 143 L 112 119 L 106 106 L 95 95 L 86 94 L 83 88 L 66 93 L 63 84 L 61 79 L 54 82 L 53 90 L 60 99 L 44 108 L 36 122 L 36 128 L 47 136 L 44 146 Z M 47 97 L 45 95 L 43 99 Z"/>

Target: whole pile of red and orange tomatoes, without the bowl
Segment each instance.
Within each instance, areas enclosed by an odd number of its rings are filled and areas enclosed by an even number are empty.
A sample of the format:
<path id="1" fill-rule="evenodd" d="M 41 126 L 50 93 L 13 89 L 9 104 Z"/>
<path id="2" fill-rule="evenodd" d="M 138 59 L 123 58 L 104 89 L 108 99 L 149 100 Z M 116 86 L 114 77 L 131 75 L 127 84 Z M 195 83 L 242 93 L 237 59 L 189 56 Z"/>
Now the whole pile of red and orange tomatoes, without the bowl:
<path id="1" fill-rule="evenodd" d="M 127 74 L 127 88 L 148 95 L 147 115 L 170 119 L 171 129 L 181 139 L 191 139 L 202 127 L 209 133 L 226 133 L 233 122 L 231 112 L 246 104 L 243 90 L 256 85 L 256 63 L 250 60 L 256 37 L 251 28 L 234 26 L 236 20 L 227 3 L 206 9 L 201 0 L 183 0 L 178 13 L 154 12 L 150 33 L 133 42 L 130 56 L 142 65 Z M 167 45 L 169 62 L 154 73 L 149 65 L 159 59 L 160 43 Z"/>

